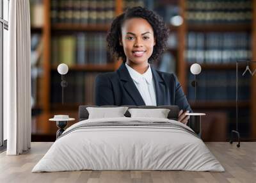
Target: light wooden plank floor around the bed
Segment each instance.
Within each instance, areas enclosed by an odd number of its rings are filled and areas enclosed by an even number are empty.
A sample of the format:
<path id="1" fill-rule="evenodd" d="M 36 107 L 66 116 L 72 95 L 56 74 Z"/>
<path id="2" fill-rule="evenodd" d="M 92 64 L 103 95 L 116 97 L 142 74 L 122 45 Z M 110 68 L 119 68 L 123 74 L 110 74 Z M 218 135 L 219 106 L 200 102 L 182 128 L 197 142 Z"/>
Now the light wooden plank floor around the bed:
<path id="1" fill-rule="evenodd" d="M 256 142 L 206 143 L 225 172 L 195 171 L 65 171 L 31 173 L 52 143 L 32 143 L 22 155 L 0 154 L 0 182 L 256 182 Z"/>

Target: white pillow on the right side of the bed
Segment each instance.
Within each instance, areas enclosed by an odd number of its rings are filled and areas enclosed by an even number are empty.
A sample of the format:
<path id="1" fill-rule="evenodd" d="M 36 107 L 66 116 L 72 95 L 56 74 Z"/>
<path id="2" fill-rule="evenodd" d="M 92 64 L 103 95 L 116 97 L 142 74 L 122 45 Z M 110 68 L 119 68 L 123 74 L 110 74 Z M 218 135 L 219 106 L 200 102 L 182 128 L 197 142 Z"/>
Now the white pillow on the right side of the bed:
<path id="1" fill-rule="evenodd" d="M 167 118 L 170 109 L 128 109 L 131 118 L 150 117 L 150 118 Z"/>

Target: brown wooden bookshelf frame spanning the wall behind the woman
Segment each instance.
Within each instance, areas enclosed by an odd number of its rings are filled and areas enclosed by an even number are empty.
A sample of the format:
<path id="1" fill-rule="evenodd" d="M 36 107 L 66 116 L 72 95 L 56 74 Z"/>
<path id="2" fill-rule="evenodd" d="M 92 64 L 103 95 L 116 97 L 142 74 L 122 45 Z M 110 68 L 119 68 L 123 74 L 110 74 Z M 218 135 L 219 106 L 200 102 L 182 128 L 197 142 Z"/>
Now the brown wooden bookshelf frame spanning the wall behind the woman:
<path id="1" fill-rule="evenodd" d="M 42 39 L 44 42 L 44 50 L 43 50 L 43 82 L 42 88 L 44 88 L 44 92 L 42 95 L 42 104 L 38 104 L 36 106 L 42 109 L 42 115 L 38 116 L 38 124 L 41 125 L 42 131 L 45 132 L 51 128 L 51 125 L 47 123 L 48 118 L 56 113 L 65 113 L 72 114 L 75 116 L 78 113 L 79 104 L 65 104 L 66 107 L 63 107 L 62 104 L 51 104 L 51 72 L 52 70 L 56 70 L 57 66 L 51 65 L 51 38 L 53 34 L 58 34 L 59 32 L 77 32 L 77 31 L 103 31 L 106 32 L 110 28 L 109 24 L 97 24 L 97 25 L 84 25 L 81 26 L 79 24 L 52 24 L 51 23 L 51 1 L 44 0 L 44 26 L 42 28 L 31 28 L 31 32 L 40 32 L 42 33 Z M 180 7 L 180 15 L 184 18 L 186 15 L 186 0 L 177 1 Z M 123 11 L 123 0 L 115 0 L 115 15 L 120 15 Z M 186 21 L 181 26 L 175 27 L 170 26 L 170 31 L 177 33 L 177 49 L 170 49 L 176 56 L 177 60 L 177 76 L 179 78 L 180 84 L 185 93 L 188 93 L 188 72 L 190 63 L 187 63 L 184 52 L 186 51 L 186 38 L 188 35 L 188 31 L 200 31 L 200 32 L 239 32 L 239 31 L 248 31 L 252 33 L 252 58 L 256 60 L 256 0 L 253 0 L 253 21 L 252 24 L 188 24 Z M 109 72 L 118 69 L 122 61 L 108 63 L 106 65 L 74 65 L 70 66 L 69 70 L 72 71 L 86 71 L 86 72 Z M 253 68 L 253 70 L 256 67 Z M 235 70 L 236 64 L 227 63 L 227 64 L 202 64 L 203 70 Z M 250 102 L 242 102 L 239 104 L 241 107 L 248 107 L 251 111 L 252 118 L 252 138 L 256 139 L 256 103 L 254 102 L 254 98 L 256 96 L 256 78 L 252 77 L 251 84 L 251 100 Z M 38 109 L 36 107 L 36 109 Z M 191 107 L 200 111 L 200 109 L 211 109 L 214 111 L 216 108 L 221 108 L 223 110 L 229 109 L 230 107 L 236 107 L 236 103 L 234 102 L 196 102 L 193 103 L 191 101 Z M 68 109 L 68 110 L 67 110 Z M 45 125 L 47 124 L 47 125 Z M 45 126 L 44 126 L 45 125 Z M 55 129 L 54 129 L 55 130 Z"/>

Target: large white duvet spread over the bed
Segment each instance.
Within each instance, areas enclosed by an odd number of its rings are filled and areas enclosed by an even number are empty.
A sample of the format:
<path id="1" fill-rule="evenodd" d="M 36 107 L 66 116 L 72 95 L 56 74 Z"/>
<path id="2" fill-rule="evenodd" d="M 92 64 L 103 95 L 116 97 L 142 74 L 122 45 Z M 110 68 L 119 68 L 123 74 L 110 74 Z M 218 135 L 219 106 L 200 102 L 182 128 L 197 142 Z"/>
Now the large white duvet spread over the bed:
<path id="1" fill-rule="evenodd" d="M 88 123 L 168 122 L 174 127 L 81 127 Z M 77 128 L 78 127 L 78 128 Z M 76 129 L 77 128 L 77 129 Z M 184 129 L 184 130 L 182 130 Z M 187 131 L 186 131 L 187 130 Z M 225 171 L 188 126 L 163 118 L 84 120 L 63 132 L 32 172 L 72 170 Z"/>

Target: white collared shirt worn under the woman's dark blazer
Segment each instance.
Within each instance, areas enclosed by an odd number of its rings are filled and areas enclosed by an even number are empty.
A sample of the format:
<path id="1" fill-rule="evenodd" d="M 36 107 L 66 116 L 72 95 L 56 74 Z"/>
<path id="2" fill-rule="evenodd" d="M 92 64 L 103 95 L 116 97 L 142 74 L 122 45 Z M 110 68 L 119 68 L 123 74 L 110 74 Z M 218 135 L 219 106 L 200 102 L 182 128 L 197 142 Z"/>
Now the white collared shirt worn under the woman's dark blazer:
<path id="1" fill-rule="evenodd" d="M 138 88 L 146 106 L 157 106 L 155 84 L 150 65 L 148 70 L 143 74 L 140 74 L 131 68 L 129 65 L 127 65 L 127 63 L 125 63 L 125 67 L 132 77 L 132 81 L 134 82 L 135 86 Z"/>

